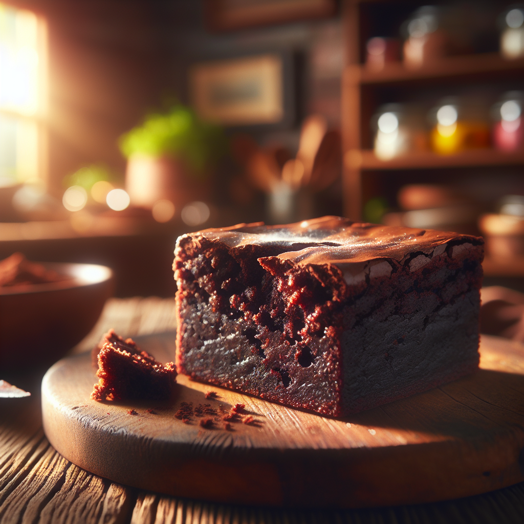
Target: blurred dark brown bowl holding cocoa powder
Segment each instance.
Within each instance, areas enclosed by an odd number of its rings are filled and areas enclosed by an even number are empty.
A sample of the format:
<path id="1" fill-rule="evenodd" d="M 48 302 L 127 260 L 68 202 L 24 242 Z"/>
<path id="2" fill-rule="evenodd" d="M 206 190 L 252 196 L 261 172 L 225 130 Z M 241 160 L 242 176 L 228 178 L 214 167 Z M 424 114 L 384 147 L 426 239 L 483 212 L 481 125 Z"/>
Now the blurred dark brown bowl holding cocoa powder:
<path id="1" fill-rule="evenodd" d="M 0 370 L 50 364 L 88 334 L 114 291 L 113 271 L 40 263 L 60 282 L 0 287 Z"/>

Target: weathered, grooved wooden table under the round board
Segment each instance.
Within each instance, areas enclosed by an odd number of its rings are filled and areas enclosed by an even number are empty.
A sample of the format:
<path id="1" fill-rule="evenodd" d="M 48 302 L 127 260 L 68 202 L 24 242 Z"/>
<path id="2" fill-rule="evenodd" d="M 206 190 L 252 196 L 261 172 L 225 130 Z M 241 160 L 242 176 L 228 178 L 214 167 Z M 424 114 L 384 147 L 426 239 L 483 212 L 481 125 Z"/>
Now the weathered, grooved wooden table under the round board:
<path id="1" fill-rule="evenodd" d="M 170 299 L 112 299 L 73 352 L 90 349 L 110 327 L 136 336 L 176 328 Z M 524 348 L 523 348 L 524 350 Z M 0 402 L 0 524 L 470 524 L 524 522 L 524 483 L 435 504 L 357 510 L 300 510 L 212 504 L 144 493 L 88 473 L 49 444 L 41 427 L 39 380 L 45 370 L 12 379 L 32 392 Z M 524 450 L 522 453 L 524 467 Z"/>

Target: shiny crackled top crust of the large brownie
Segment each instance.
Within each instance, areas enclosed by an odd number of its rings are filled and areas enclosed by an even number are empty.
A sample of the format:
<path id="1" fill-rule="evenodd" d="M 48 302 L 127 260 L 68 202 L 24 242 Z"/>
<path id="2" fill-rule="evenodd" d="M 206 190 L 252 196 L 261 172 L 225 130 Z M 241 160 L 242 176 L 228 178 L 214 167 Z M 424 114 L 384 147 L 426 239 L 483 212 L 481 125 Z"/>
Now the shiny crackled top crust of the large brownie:
<path id="1" fill-rule="evenodd" d="M 400 261 L 414 252 L 429 254 L 436 246 L 450 241 L 483 244 L 482 238 L 471 235 L 352 222 L 339 216 L 323 216 L 276 226 L 266 226 L 263 222 L 237 224 L 189 233 L 183 237 L 203 237 L 230 247 L 289 247 L 278 257 L 300 265 L 356 263 L 375 258 Z"/>

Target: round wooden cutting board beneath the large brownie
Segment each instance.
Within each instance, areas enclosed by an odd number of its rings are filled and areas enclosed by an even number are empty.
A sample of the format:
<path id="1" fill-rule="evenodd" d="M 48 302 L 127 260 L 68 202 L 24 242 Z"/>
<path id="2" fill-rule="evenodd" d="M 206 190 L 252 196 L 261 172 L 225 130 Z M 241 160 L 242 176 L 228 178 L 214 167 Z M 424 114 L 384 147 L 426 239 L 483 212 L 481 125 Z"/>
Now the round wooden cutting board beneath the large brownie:
<path id="1" fill-rule="evenodd" d="M 173 358 L 172 333 L 137 342 L 162 362 Z M 169 402 L 95 402 L 95 380 L 89 354 L 49 369 L 46 435 L 74 464 L 142 489 L 240 504 L 369 507 L 524 479 L 524 345 L 497 337 L 482 337 L 475 374 L 344 420 L 184 376 Z M 216 398 L 206 399 L 208 391 Z M 192 402 L 185 422 L 176 418 L 182 402 Z M 253 420 L 225 429 L 222 413 L 236 403 Z"/>

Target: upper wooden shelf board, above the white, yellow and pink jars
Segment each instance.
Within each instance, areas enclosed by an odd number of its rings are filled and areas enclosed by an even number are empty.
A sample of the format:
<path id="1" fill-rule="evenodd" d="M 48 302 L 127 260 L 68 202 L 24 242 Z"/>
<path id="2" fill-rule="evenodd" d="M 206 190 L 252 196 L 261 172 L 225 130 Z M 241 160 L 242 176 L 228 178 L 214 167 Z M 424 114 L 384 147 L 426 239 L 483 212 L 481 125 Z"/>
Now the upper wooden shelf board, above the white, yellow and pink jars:
<path id="1" fill-rule="evenodd" d="M 361 85 L 413 83 L 435 79 L 474 80 L 478 77 L 485 78 L 490 73 L 522 77 L 524 59 L 505 60 L 498 53 L 482 53 L 446 57 L 417 69 L 406 68 L 402 62 L 390 62 L 381 71 L 373 71 L 359 64 L 348 65 L 346 68 L 347 81 Z"/>

